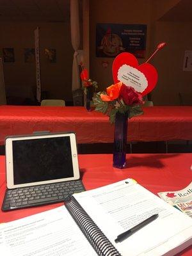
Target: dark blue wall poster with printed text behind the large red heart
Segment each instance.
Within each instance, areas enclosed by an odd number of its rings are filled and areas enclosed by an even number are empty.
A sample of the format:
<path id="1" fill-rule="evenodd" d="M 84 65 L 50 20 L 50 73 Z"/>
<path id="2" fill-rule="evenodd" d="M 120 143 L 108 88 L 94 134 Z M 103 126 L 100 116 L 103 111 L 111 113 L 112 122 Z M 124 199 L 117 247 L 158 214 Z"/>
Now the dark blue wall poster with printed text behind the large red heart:
<path id="1" fill-rule="evenodd" d="M 130 52 L 145 58 L 147 25 L 104 24 L 96 26 L 96 57 L 115 57 Z"/>

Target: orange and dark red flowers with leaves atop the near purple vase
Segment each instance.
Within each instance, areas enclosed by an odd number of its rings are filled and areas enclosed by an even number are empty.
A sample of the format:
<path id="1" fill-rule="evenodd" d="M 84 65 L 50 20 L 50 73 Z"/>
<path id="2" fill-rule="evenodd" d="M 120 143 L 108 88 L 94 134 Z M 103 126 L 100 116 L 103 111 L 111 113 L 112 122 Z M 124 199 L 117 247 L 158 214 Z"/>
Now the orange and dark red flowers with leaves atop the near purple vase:
<path id="1" fill-rule="evenodd" d="M 129 118 L 143 114 L 141 109 L 141 104 L 143 104 L 141 94 L 122 82 L 112 84 L 106 89 L 106 92 L 97 93 L 93 97 L 93 103 L 96 105 L 95 110 L 109 116 L 111 124 L 115 122 L 117 112 L 127 112 Z"/>

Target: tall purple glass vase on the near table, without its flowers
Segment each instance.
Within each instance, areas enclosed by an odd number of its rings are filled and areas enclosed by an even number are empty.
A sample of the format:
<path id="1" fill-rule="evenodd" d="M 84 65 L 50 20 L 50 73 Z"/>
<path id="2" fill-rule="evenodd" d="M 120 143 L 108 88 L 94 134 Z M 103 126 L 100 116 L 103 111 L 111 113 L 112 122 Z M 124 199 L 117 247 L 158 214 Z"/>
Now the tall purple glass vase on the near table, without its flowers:
<path id="1" fill-rule="evenodd" d="M 117 112 L 113 145 L 113 167 L 124 168 L 126 164 L 128 113 Z"/>

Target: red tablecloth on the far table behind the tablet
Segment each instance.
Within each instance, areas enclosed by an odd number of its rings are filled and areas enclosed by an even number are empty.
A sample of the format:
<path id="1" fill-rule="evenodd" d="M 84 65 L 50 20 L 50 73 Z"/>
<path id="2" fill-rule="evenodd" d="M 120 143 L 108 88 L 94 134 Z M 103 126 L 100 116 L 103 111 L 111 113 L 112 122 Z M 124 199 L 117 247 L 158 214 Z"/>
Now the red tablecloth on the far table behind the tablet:
<path id="1" fill-rule="evenodd" d="M 192 106 L 143 108 L 128 124 L 129 141 L 192 140 Z M 84 107 L 0 106 L 0 143 L 12 134 L 74 131 L 77 143 L 113 142 L 108 116 Z"/>

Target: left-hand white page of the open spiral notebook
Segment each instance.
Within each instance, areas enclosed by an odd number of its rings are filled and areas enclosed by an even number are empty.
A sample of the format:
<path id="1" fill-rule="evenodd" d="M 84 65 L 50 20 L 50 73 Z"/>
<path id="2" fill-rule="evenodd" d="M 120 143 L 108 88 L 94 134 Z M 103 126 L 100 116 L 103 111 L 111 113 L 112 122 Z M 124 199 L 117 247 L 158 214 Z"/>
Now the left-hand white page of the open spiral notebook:
<path id="1" fill-rule="evenodd" d="M 64 206 L 0 226 L 6 256 L 97 255 Z"/>

